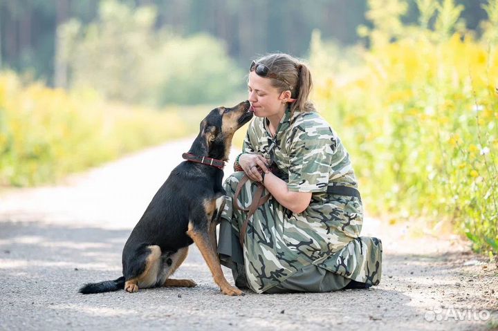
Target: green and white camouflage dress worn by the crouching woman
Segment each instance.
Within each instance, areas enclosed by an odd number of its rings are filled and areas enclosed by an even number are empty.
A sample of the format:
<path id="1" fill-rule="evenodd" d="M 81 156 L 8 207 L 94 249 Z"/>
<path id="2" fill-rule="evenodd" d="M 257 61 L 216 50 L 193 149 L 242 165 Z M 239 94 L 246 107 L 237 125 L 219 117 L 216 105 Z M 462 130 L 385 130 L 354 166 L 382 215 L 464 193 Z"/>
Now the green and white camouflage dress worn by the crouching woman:
<path id="1" fill-rule="evenodd" d="M 250 123 L 243 151 L 271 156 L 288 176 L 289 191 L 313 194 L 302 213 L 295 214 L 270 198 L 252 216 L 243 246 L 248 286 L 257 293 L 266 292 L 311 265 L 377 285 L 382 243 L 377 238 L 360 237 L 363 218 L 360 198 L 326 192 L 333 185 L 357 187 L 349 154 L 338 136 L 315 112 L 296 110 L 291 118 L 288 109 L 275 138 L 270 135 L 266 121 L 255 117 Z M 242 176 L 243 172 L 233 173 L 224 184 L 228 197 L 221 218 L 231 224 L 236 236 L 246 220 L 246 213 L 234 208 L 232 200 Z M 239 204 L 248 207 L 255 189 L 255 183 L 246 182 Z"/>

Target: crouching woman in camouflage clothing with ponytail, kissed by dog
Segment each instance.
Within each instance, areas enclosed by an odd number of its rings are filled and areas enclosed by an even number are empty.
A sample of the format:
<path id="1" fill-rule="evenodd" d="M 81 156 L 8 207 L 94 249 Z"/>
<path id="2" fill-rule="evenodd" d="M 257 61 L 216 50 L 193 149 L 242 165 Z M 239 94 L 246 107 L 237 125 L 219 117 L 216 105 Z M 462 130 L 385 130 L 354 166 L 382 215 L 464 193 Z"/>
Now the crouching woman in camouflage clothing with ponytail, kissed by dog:
<path id="1" fill-rule="evenodd" d="M 360 237 L 362 202 L 349 154 L 308 101 L 311 73 L 290 55 L 250 66 L 250 123 L 225 181 L 218 252 L 235 285 L 257 293 L 330 292 L 380 281 L 382 243 Z M 237 186 L 244 175 L 250 180 Z M 258 185 L 271 198 L 247 223 Z M 238 200 L 238 201 L 235 201 Z M 243 248 L 239 236 L 243 236 Z"/>

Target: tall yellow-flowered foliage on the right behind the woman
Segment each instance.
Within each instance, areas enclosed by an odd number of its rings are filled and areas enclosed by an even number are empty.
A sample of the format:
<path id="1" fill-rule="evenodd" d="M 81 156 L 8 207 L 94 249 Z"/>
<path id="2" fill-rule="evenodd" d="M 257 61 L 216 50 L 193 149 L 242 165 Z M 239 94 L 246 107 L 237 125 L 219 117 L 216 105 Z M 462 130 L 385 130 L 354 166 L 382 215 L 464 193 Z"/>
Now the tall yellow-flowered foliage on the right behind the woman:
<path id="1" fill-rule="evenodd" d="M 369 1 L 372 8 L 386 2 Z M 403 27 L 396 39 L 374 21 L 367 35 L 375 38 L 379 28 L 385 38 L 371 40 L 363 64 L 343 72 L 347 78 L 322 70 L 335 59 L 315 40 L 315 100 L 353 155 L 370 212 L 432 225 L 451 220 L 475 249 L 497 254 L 496 39 L 477 41 L 462 31 L 462 8 L 453 1 L 417 3 L 420 25 Z M 490 20 L 496 3 L 486 6 Z"/>

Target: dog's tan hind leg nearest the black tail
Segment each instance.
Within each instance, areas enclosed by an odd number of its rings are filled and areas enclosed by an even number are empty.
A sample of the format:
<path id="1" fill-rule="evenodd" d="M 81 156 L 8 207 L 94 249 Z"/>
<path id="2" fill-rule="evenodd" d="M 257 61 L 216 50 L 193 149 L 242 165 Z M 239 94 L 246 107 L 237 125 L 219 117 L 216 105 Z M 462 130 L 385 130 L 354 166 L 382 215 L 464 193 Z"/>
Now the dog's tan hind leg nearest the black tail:
<path id="1" fill-rule="evenodd" d="M 140 275 L 124 282 L 124 290 L 127 292 L 138 292 L 139 288 L 154 287 L 157 283 L 157 276 L 161 265 L 161 250 L 157 245 L 147 246 L 147 249 L 149 249 L 149 254 L 145 258 L 145 265 L 141 266 L 144 271 Z"/>

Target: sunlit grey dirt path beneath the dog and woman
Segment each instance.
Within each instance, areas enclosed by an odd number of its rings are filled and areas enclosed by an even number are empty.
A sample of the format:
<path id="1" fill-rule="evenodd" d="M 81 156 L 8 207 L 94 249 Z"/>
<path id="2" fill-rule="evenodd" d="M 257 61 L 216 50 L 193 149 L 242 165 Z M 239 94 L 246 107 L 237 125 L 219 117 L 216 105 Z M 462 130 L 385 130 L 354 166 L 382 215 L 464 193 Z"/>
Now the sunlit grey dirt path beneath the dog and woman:
<path id="1" fill-rule="evenodd" d="M 410 238 L 409 225 L 372 218 L 362 235 L 381 238 L 385 251 L 382 281 L 370 290 L 223 296 L 191 246 L 176 276 L 197 287 L 78 294 L 83 283 L 120 276 L 129 231 L 191 142 L 131 155 L 57 187 L 3 191 L 0 330 L 497 328 L 496 265 L 456 236 Z"/>

